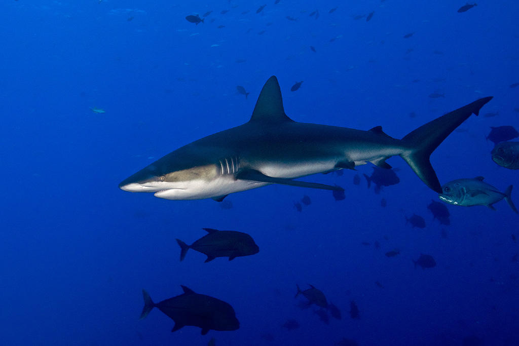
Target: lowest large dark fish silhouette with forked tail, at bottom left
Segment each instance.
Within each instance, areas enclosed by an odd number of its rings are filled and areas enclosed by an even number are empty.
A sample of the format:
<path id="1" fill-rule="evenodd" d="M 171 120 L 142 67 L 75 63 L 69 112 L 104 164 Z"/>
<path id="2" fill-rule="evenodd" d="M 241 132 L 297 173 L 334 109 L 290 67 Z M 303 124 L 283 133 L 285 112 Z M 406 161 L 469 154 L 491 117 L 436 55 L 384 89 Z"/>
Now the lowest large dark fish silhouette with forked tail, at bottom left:
<path id="1" fill-rule="evenodd" d="M 153 308 L 158 308 L 175 322 L 171 331 L 184 326 L 202 328 L 202 335 L 213 330 L 236 330 L 240 322 L 236 313 L 225 301 L 193 292 L 186 286 L 181 286 L 184 293 L 180 296 L 154 303 L 149 294 L 143 289 L 144 308 L 140 319 L 144 319 Z"/>

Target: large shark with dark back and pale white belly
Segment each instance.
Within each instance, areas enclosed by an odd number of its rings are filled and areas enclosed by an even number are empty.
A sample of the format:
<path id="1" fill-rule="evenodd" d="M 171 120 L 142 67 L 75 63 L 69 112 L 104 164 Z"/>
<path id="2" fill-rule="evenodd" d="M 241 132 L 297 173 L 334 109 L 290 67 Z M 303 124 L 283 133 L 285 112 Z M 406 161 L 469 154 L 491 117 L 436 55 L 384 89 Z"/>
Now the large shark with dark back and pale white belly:
<path id="1" fill-rule="evenodd" d="M 278 79 L 271 76 L 248 122 L 172 151 L 124 179 L 119 188 L 168 200 L 215 201 L 269 184 L 343 190 L 298 178 L 353 170 L 368 162 L 389 169 L 386 160 L 400 156 L 422 182 L 442 193 L 429 160 L 432 152 L 491 99 L 476 100 L 395 139 L 381 126 L 365 131 L 292 120 L 284 112 Z"/>

